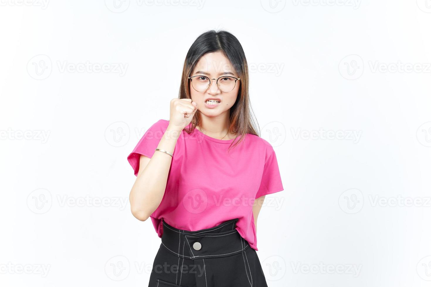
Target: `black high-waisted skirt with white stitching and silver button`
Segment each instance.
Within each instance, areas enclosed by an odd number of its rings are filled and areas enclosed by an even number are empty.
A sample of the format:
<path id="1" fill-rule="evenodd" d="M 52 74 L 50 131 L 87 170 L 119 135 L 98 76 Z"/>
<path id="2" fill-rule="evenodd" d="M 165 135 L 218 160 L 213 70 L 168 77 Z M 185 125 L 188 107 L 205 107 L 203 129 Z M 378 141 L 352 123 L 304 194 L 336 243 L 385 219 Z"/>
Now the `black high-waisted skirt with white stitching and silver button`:
<path id="1" fill-rule="evenodd" d="M 148 287 L 268 287 L 256 250 L 235 229 L 237 221 L 187 231 L 162 219 Z"/>

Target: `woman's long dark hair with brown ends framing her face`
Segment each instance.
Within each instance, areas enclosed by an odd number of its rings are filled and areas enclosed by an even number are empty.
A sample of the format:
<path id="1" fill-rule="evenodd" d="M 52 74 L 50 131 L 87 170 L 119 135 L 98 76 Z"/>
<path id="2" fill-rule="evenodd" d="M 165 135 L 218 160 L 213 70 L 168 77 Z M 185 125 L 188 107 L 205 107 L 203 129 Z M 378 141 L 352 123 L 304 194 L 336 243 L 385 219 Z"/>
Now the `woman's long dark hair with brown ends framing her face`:
<path id="1" fill-rule="evenodd" d="M 183 74 L 181 77 L 181 86 L 179 99 L 191 99 L 189 89 L 189 79 L 200 57 L 206 53 L 221 51 L 226 58 L 229 59 L 234 66 L 235 71 L 240 77 L 240 89 L 238 91 L 237 100 L 230 110 L 230 125 L 229 131 L 236 133 L 234 145 L 229 146 L 228 151 L 244 140 L 247 133 L 259 136 L 259 128 L 252 117 L 253 109 L 250 104 L 248 93 L 248 65 L 245 58 L 244 50 L 238 41 L 237 37 L 228 31 L 210 30 L 201 34 L 196 38 L 187 52 L 184 60 Z M 187 133 L 191 133 L 200 123 L 200 111 L 198 110 L 191 121 L 189 129 L 184 129 Z M 239 137 L 239 140 L 236 139 Z"/>

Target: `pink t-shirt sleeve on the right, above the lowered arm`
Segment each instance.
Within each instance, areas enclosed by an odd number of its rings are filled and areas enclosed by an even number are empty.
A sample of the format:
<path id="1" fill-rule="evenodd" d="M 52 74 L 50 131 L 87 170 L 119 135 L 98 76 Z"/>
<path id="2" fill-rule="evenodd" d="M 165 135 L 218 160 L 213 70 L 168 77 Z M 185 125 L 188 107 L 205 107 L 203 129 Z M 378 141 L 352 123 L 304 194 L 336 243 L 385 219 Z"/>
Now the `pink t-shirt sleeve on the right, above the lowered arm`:
<path id="1" fill-rule="evenodd" d="M 262 179 L 259 190 L 256 193 L 256 198 L 284 190 L 280 170 L 278 169 L 277 157 L 271 145 L 267 146 L 265 158 Z"/>

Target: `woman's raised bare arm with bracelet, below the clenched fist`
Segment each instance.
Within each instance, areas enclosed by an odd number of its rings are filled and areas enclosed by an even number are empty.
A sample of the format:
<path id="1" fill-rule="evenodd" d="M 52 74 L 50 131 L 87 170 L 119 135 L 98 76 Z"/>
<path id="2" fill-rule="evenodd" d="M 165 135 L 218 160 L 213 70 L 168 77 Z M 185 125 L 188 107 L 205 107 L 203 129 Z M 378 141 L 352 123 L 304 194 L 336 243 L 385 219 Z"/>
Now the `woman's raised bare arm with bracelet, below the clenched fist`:
<path id="1" fill-rule="evenodd" d="M 170 124 L 160 139 L 157 148 L 173 153 L 181 130 Z M 139 171 L 130 191 L 129 201 L 134 217 L 145 221 L 159 207 L 165 194 L 172 157 L 155 151 L 151 158 L 141 154 Z"/>

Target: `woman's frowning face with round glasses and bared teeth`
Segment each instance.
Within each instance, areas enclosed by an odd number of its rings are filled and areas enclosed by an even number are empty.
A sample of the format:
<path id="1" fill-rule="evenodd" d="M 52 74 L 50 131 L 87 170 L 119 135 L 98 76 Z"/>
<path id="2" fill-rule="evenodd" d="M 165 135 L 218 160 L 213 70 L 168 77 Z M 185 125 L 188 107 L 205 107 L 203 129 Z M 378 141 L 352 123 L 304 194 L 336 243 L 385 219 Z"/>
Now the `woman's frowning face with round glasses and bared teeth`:
<path id="1" fill-rule="evenodd" d="M 215 79 L 211 80 L 209 88 L 203 92 L 198 92 L 194 89 L 192 81 L 195 81 L 195 86 L 199 83 L 198 81 L 201 81 L 201 84 L 205 86 L 205 78 L 194 77 L 192 80 L 189 80 L 191 99 L 193 102 L 197 103 L 198 110 L 207 117 L 215 117 L 228 112 L 237 100 L 238 91 L 240 89 L 240 80 L 236 81 L 234 89 L 229 92 L 224 92 L 220 89 L 221 87 L 223 90 L 226 90 L 224 87 L 231 85 L 231 83 L 229 83 L 231 79 L 228 77 L 223 78 L 222 76 L 238 78 L 238 74 L 228 58 L 226 58 L 222 52 L 205 54 L 197 62 L 190 77 L 198 75 L 206 76 L 209 79 Z M 216 80 L 219 77 L 222 77 L 219 80 L 220 87 L 216 84 Z M 215 99 L 216 102 L 213 100 L 207 102 L 207 100 L 211 98 Z"/>

